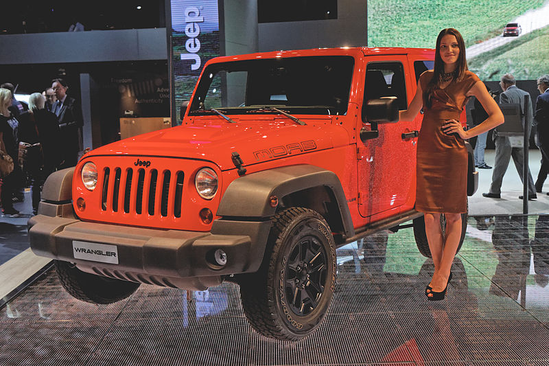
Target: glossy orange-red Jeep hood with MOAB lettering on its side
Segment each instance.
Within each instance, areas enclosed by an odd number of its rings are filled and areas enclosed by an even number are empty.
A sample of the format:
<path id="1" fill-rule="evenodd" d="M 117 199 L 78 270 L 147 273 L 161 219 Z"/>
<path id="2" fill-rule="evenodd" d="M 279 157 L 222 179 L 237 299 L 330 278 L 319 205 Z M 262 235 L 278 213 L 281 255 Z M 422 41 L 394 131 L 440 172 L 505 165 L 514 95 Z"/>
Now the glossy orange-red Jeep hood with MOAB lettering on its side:
<path id="1" fill-rule="evenodd" d="M 232 152 L 238 152 L 246 166 L 349 144 L 347 130 L 340 124 L 332 124 L 331 117 L 300 119 L 307 125 L 301 126 L 279 116 L 237 120 L 234 124 L 218 117 L 197 117 L 183 126 L 102 146 L 87 156 L 185 157 L 212 161 L 221 170 L 229 170 L 235 168 Z"/>

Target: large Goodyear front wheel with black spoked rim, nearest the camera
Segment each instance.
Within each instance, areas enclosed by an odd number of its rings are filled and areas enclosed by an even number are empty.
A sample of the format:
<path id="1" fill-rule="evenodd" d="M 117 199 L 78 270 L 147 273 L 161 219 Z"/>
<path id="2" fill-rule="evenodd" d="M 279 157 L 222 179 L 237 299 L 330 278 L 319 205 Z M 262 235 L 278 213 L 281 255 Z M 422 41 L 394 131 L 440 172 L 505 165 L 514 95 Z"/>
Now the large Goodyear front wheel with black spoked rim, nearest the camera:
<path id="1" fill-rule="evenodd" d="M 273 218 L 257 273 L 240 280 L 244 314 L 274 339 L 298 341 L 324 319 L 336 284 L 336 247 L 320 214 L 292 207 Z"/>

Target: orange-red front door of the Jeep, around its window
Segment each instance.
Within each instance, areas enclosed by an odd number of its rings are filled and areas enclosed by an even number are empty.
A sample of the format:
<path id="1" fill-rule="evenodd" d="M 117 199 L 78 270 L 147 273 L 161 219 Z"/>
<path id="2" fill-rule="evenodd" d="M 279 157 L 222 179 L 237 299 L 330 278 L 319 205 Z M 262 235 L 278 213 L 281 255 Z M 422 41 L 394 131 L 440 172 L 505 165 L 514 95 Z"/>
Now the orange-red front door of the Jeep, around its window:
<path id="1" fill-rule="evenodd" d="M 368 57 L 364 100 L 397 97 L 399 109 L 408 108 L 404 72 L 406 56 Z M 364 124 L 366 128 L 370 124 Z M 415 190 L 416 122 L 378 124 L 379 137 L 358 139 L 358 199 L 360 214 L 373 220 L 394 215 Z M 375 216 L 374 216 L 375 215 Z"/>

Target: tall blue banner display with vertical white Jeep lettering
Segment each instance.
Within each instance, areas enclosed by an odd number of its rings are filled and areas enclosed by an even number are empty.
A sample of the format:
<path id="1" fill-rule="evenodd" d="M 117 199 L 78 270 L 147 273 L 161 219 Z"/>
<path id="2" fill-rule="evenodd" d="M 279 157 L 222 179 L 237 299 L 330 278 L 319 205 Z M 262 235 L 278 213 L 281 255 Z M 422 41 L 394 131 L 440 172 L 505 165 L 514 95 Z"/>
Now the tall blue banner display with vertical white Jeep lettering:
<path id="1" fill-rule="evenodd" d="M 177 111 L 191 99 L 207 60 L 219 56 L 218 0 L 171 0 L 172 62 Z M 174 116 L 180 124 L 179 113 Z"/>

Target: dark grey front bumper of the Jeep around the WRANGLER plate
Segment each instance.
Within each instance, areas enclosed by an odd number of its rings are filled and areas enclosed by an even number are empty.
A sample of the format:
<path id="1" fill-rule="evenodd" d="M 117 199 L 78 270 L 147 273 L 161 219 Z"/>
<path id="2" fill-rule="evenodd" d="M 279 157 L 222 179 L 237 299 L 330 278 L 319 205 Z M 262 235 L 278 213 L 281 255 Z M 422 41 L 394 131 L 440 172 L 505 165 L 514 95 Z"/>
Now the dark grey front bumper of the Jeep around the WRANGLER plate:
<path id="1" fill-rule="evenodd" d="M 40 207 L 41 213 L 47 211 L 44 208 Z M 36 255 L 72 262 L 96 275 L 188 289 L 214 286 L 223 275 L 257 271 L 264 255 L 262 242 L 271 226 L 270 221 L 217 220 L 211 232 L 196 232 L 83 222 L 72 215 L 63 216 L 39 214 L 29 220 L 30 247 Z M 75 258 L 73 241 L 115 245 L 118 264 Z M 224 266 L 213 260 L 217 249 L 226 253 Z"/>

